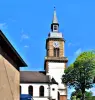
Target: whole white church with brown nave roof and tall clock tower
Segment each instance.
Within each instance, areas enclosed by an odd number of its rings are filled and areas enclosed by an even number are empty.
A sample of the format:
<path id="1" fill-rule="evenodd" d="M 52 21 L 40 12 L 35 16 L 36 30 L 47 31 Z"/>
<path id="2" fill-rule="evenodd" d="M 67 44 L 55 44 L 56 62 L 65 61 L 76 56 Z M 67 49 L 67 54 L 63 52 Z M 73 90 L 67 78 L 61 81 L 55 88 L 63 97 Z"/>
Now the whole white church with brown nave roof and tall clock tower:
<path id="1" fill-rule="evenodd" d="M 54 9 L 51 32 L 46 39 L 45 71 L 20 71 L 21 94 L 30 94 L 34 100 L 67 100 L 67 87 L 61 80 L 68 62 L 64 45 Z"/>

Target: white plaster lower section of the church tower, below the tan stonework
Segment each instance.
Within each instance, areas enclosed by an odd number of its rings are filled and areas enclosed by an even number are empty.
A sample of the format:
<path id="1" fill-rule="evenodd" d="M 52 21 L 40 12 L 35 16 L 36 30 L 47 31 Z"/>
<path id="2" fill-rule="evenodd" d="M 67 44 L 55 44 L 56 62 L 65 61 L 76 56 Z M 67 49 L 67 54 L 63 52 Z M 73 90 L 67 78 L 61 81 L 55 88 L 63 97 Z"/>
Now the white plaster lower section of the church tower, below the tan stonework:
<path id="1" fill-rule="evenodd" d="M 60 95 L 66 95 L 66 86 L 62 84 L 62 75 L 64 74 L 65 63 L 62 62 L 49 62 L 48 63 L 48 74 L 58 82 L 58 89 Z"/>

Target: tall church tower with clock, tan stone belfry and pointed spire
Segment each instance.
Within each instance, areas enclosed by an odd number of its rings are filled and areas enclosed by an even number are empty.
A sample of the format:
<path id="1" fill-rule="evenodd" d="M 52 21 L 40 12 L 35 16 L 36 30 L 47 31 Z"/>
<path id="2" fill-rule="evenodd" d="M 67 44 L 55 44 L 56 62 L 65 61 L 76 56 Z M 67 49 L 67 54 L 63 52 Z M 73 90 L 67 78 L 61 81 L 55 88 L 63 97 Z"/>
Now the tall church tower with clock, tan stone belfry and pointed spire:
<path id="1" fill-rule="evenodd" d="M 67 89 L 62 84 L 62 75 L 66 68 L 68 59 L 64 55 L 65 40 L 61 32 L 59 32 L 59 23 L 54 8 L 54 15 L 51 24 L 51 32 L 46 39 L 46 57 L 45 57 L 45 70 L 46 74 L 50 75 L 58 82 L 58 93 L 60 100 L 67 100 Z"/>

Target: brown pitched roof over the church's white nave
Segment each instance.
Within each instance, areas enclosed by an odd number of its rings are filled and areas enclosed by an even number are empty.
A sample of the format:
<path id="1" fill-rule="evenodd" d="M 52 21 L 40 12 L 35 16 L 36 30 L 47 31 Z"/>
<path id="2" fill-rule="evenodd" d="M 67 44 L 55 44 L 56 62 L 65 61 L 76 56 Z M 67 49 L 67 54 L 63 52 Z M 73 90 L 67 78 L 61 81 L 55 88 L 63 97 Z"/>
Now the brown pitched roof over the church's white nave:
<path id="1" fill-rule="evenodd" d="M 20 71 L 20 83 L 49 83 L 49 76 L 39 71 Z"/>

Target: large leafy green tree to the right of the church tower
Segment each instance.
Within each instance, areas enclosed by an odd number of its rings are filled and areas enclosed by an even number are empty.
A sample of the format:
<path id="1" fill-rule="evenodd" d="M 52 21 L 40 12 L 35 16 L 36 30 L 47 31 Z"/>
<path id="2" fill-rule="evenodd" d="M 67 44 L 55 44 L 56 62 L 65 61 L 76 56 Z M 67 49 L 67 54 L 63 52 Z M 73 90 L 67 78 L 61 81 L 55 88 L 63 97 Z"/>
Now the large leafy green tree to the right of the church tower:
<path id="1" fill-rule="evenodd" d="M 81 90 L 82 99 L 85 100 L 85 89 L 93 86 L 95 76 L 95 52 L 88 51 L 81 53 L 62 76 L 62 82 L 75 90 Z"/>

